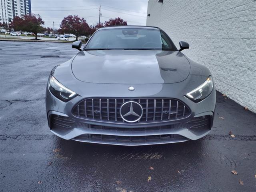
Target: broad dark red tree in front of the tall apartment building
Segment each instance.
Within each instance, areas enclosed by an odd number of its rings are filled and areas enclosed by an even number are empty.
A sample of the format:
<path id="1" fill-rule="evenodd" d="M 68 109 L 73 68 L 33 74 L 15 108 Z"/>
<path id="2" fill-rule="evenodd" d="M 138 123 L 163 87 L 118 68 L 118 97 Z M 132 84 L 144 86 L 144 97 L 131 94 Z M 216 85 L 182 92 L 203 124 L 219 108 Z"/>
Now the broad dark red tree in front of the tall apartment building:
<path id="1" fill-rule="evenodd" d="M 37 39 L 37 33 L 42 31 L 44 21 L 40 15 L 24 15 L 21 18 L 16 16 L 13 18 L 11 26 L 14 30 L 23 30 L 33 32 Z"/>

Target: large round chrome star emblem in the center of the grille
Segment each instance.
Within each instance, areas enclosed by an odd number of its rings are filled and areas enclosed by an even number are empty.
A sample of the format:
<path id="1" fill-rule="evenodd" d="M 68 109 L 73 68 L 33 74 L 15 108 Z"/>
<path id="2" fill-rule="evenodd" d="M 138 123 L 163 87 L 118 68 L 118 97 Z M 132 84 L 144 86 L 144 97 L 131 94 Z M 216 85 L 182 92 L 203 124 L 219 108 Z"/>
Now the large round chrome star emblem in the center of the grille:
<path id="1" fill-rule="evenodd" d="M 120 107 L 120 116 L 129 123 L 134 123 L 140 120 L 143 115 L 142 106 L 134 101 L 128 101 Z"/>

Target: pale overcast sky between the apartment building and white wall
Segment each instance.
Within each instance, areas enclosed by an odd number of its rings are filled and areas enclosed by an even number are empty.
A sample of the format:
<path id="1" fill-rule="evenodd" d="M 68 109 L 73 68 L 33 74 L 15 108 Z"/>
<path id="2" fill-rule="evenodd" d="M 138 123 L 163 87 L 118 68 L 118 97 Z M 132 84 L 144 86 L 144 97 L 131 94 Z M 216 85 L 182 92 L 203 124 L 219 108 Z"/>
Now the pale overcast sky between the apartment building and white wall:
<path id="1" fill-rule="evenodd" d="M 59 28 L 65 16 L 78 15 L 89 25 L 120 17 L 128 25 L 146 25 L 148 0 L 31 0 L 32 13 L 40 14 L 45 26 Z"/>

